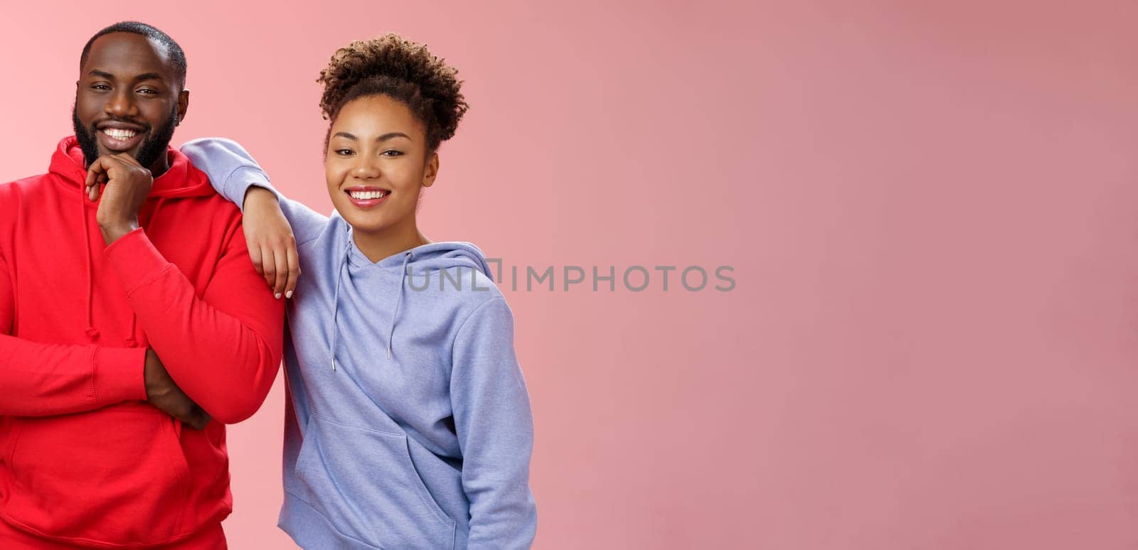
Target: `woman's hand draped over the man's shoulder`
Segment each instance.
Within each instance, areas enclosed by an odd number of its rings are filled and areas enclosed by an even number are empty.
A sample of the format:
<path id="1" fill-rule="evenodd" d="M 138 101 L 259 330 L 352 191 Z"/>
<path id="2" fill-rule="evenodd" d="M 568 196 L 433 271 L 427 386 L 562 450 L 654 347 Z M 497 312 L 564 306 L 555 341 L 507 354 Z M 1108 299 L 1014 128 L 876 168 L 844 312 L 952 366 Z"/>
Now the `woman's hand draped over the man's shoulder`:
<path id="1" fill-rule="evenodd" d="M 265 277 L 278 300 L 282 295 L 292 298 L 296 280 L 300 276 L 300 260 L 292 226 L 284 218 L 277 195 L 267 189 L 249 188 L 244 210 L 245 242 L 253 267 Z"/>

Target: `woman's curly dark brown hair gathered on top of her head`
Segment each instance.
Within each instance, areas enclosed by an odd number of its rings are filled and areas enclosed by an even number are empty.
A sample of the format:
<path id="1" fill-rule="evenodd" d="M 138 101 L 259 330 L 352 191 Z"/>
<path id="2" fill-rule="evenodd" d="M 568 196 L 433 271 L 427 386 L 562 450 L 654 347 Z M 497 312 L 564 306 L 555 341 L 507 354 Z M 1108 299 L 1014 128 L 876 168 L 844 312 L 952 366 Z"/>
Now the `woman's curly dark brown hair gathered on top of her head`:
<path id="1" fill-rule="evenodd" d="M 353 99 L 389 95 L 411 109 L 427 128 L 427 150 L 454 136 L 469 106 L 459 70 L 431 55 L 427 45 L 395 33 L 357 40 L 336 50 L 316 82 L 324 85 L 320 109 L 336 120 Z M 329 132 L 331 128 L 329 127 Z M 325 138 L 327 149 L 327 138 Z"/>

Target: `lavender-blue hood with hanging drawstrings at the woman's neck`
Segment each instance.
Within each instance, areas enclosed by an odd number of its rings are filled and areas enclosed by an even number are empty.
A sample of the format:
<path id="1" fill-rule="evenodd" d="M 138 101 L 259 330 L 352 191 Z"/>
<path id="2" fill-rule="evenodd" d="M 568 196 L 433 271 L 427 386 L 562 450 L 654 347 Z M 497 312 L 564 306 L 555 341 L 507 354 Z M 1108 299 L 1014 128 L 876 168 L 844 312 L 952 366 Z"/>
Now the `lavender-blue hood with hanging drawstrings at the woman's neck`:
<path id="1" fill-rule="evenodd" d="M 332 370 L 336 369 L 336 343 L 338 341 L 339 333 L 335 324 L 337 322 L 337 314 L 339 312 L 340 306 L 340 283 L 343 277 L 348 275 L 344 273 L 345 267 L 348 268 L 349 273 L 371 269 L 397 269 L 397 278 L 395 280 L 396 284 L 394 284 L 390 290 L 390 292 L 395 293 L 395 310 L 391 314 L 391 320 L 387 330 L 388 360 L 391 359 L 391 341 L 395 338 L 395 326 L 399 320 L 399 314 L 403 307 L 403 294 L 405 292 L 405 286 L 407 286 L 409 277 L 422 277 L 426 280 L 422 285 L 423 288 L 427 288 L 430 285 L 431 278 L 440 276 L 437 272 L 444 269 L 457 269 L 462 272 L 462 268 L 470 268 L 478 270 L 493 282 L 490 266 L 486 262 L 486 256 L 472 243 L 457 241 L 432 242 L 389 256 L 377 262 L 372 262 L 362 251 L 360 251 L 358 248 L 356 248 L 355 240 L 352 238 L 351 226 L 348 226 L 347 233 L 347 247 L 345 247 L 344 257 L 340 260 L 340 266 L 337 270 L 336 292 L 332 295 Z M 461 277 L 462 275 L 459 274 L 459 276 Z"/>

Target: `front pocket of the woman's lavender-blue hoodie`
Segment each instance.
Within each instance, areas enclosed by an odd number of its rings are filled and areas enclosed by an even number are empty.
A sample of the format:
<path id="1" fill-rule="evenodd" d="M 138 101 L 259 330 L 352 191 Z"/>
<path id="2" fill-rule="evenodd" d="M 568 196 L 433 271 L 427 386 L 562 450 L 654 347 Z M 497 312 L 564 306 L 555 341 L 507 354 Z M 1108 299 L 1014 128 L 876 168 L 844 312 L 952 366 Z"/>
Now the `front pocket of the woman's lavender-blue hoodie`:
<path id="1" fill-rule="evenodd" d="M 454 548 L 455 523 L 415 470 L 403 434 L 308 419 L 298 489 L 344 534 L 381 548 Z"/>

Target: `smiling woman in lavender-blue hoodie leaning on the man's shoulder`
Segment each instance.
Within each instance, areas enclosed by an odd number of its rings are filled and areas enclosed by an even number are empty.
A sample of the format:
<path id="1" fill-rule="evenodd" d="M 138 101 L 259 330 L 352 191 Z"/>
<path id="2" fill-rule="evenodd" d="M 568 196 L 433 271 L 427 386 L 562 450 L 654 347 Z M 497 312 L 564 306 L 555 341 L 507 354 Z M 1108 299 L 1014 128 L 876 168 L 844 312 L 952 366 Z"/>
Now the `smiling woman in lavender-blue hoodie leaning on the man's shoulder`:
<path id="1" fill-rule="evenodd" d="M 274 290 L 291 297 L 298 284 L 281 527 L 304 548 L 534 540 L 534 428 L 513 314 L 477 247 L 432 243 L 417 220 L 439 143 L 467 110 L 456 75 L 394 34 L 332 56 L 320 78 L 331 218 L 258 189 L 267 176 L 237 143 L 183 148 L 244 205 L 250 255 Z M 420 289 L 412 274 L 473 284 Z"/>

